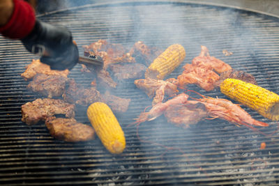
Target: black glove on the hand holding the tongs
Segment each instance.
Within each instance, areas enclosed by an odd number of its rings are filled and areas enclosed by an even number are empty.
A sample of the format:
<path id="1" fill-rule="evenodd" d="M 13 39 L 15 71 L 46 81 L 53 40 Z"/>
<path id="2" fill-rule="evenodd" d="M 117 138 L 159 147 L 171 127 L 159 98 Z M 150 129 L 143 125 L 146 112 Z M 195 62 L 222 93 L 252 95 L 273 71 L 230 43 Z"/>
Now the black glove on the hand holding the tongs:
<path id="1" fill-rule="evenodd" d="M 24 46 L 34 54 L 43 55 L 40 61 L 53 70 L 72 69 L 77 64 L 79 53 L 70 31 L 36 20 L 33 31 L 22 39 Z"/>

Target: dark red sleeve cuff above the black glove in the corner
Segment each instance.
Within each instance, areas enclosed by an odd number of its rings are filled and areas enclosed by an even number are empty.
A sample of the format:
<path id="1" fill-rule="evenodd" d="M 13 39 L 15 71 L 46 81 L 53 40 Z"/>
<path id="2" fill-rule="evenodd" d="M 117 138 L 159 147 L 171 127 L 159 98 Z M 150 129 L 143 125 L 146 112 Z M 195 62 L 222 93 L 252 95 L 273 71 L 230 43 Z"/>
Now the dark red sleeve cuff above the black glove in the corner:
<path id="1" fill-rule="evenodd" d="M 13 0 L 13 3 L 13 15 L 7 24 L 0 27 L 0 33 L 8 38 L 21 39 L 32 31 L 36 21 L 35 12 L 25 1 Z"/>

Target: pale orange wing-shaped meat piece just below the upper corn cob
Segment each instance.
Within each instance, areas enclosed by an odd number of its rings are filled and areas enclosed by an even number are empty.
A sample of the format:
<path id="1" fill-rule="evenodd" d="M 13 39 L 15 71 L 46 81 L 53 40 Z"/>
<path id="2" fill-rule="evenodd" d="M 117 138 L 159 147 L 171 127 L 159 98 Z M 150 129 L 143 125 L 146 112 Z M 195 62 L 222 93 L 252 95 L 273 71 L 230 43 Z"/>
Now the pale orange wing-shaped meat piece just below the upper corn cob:
<path id="1" fill-rule="evenodd" d="M 154 106 L 158 102 L 162 102 L 165 98 L 165 95 L 173 96 L 176 95 L 179 91 L 177 90 L 176 84 L 172 83 L 173 79 L 170 81 L 167 79 L 159 80 L 159 79 L 136 79 L 134 81 L 135 86 L 137 88 L 142 89 L 149 98 L 153 98 L 152 105 Z"/>

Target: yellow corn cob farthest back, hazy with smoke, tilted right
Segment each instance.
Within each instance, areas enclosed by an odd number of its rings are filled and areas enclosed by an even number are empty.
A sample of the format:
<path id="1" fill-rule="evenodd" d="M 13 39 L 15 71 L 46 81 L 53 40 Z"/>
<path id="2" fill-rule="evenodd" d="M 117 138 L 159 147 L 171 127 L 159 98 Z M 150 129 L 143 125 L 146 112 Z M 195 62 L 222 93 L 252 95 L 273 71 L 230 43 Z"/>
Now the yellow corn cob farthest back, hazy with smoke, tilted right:
<path id="1" fill-rule="evenodd" d="M 147 68 L 145 78 L 164 79 L 185 59 L 186 52 L 182 45 L 174 44 L 169 46 L 165 52 L 160 54 Z"/>

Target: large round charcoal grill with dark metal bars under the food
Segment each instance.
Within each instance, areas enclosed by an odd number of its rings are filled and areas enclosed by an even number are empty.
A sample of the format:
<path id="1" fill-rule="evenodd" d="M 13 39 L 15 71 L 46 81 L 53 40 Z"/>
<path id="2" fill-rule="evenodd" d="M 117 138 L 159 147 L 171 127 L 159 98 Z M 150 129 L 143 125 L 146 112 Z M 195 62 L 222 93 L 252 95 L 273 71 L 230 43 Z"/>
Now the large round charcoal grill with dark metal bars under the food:
<path id="1" fill-rule="evenodd" d="M 106 39 L 131 47 L 138 40 L 165 49 L 180 43 L 186 59 L 182 66 L 209 48 L 212 56 L 236 70 L 245 70 L 259 86 L 279 93 L 278 17 L 221 6 L 186 1 L 119 1 L 97 3 L 38 16 L 67 26 L 82 55 L 82 45 Z M 225 56 L 222 51 L 233 52 Z M 279 134 L 266 137 L 220 119 L 202 121 L 181 130 L 163 116 L 128 127 L 151 100 L 133 81 L 115 91 L 132 102 L 126 114 L 117 115 L 126 134 L 127 148 L 114 156 L 100 140 L 72 144 L 53 139 L 44 123 L 32 127 L 20 121 L 20 106 L 40 96 L 27 91 L 20 77 L 24 66 L 36 58 L 17 40 L 0 38 L 0 183 L 1 185 L 279 185 Z M 70 73 L 89 85 L 80 65 Z M 219 90 L 206 93 L 225 98 Z M 259 121 L 278 128 L 255 111 L 243 107 Z M 89 124 L 85 111 L 77 121 Z M 138 133 L 138 135 L 137 135 Z M 138 138 L 140 137 L 140 139 Z M 266 143 L 264 150 L 260 144 Z M 172 148 L 166 148 L 172 147 Z"/>

